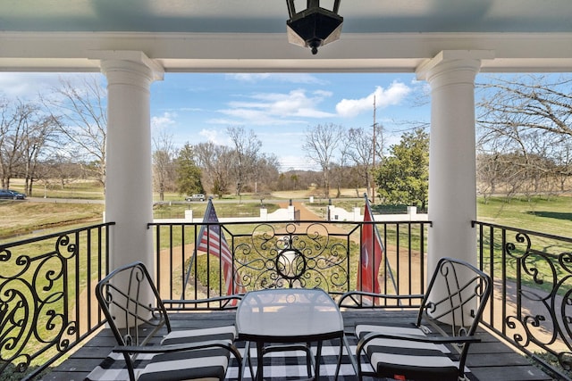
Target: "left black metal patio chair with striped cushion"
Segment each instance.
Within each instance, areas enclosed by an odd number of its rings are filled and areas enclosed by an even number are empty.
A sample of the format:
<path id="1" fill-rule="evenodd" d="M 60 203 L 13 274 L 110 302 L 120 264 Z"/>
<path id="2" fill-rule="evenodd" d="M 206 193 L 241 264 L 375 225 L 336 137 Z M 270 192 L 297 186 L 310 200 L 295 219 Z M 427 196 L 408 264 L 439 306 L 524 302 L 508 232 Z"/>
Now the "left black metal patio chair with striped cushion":
<path id="1" fill-rule="evenodd" d="M 146 294 L 151 297 L 142 300 Z M 141 262 L 114 269 L 97 284 L 96 295 L 117 340 L 114 352 L 123 354 L 131 381 L 223 380 L 231 353 L 241 363 L 234 326 L 172 331 L 164 302 Z M 164 327 L 167 335 L 161 338 L 157 333 Z M 137 371 L 135 364 L 143 353 L 152 358 Z"/>

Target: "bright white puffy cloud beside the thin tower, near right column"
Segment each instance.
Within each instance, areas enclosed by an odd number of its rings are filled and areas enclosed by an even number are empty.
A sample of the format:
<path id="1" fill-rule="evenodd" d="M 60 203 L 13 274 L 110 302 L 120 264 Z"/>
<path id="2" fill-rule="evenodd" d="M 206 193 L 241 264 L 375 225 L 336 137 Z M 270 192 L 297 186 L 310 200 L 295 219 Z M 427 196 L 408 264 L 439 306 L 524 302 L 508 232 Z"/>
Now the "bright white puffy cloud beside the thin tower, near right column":
<path id="1" fill-rule="evenodd" d="M 362 112 L 372 112 L 375 105 L 385 108 L 390 105 L 400 104 L 400 102 L 411 92 L 411 87 L 401 83 L 393 82 L 387 89 L 375 87 L 374 93 L 360 99 L 342 99 L 336 104 L 336 111 L 342 117 L 355 117 Z"/>

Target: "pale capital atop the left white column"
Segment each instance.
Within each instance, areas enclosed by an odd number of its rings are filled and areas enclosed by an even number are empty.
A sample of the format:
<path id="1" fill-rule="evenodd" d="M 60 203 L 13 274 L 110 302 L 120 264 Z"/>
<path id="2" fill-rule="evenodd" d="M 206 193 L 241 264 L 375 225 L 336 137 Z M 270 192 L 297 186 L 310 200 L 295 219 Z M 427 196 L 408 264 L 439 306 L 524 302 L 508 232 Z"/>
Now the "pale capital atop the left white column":
<path id="1" fill-rule="evenodd" d="M 99 60 L 105 75 L 107 70 L 114 68 L 142 71 L 151 81 L 164 79 L 163 66 L 138 50 L 92 50 L 89 51 L 88 58 Z"/>

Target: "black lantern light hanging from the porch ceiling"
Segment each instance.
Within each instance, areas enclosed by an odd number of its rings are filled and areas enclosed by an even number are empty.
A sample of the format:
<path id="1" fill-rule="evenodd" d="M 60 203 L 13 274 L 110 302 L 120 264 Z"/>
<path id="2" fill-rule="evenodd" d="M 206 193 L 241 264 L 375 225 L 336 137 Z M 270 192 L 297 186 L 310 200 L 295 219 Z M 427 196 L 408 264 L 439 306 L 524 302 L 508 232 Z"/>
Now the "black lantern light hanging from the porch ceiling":
<path id="1" fill-rule="evenodd" d="M 294 0 L 286 0 L 290 20 L 286 21 L 288 42 L 309 47 L 312 54 L 318 47 L 340 38 L 343 17 L 338 14 L 341 0 L 334 0 L 332 11 L 320 7 L 320 0 L 307 0 L 307 8 L 296 12 Z"/>

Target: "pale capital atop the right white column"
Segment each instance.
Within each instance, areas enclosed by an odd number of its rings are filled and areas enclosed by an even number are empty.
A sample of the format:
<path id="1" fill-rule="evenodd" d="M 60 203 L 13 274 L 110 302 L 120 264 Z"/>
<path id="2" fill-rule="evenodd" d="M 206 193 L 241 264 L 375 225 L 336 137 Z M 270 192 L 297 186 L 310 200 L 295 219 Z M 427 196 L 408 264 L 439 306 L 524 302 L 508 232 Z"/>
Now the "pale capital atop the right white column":
<path id="1" fill-rule="evenodd" d="M 442 50 L 432 59 L 423 62 L 416 70 L 417 79 L 432 82 L 439 74 L 450 71 L 464 71 L 475 77 L 482 60 L 492 60 L 492 50 Z"/>

